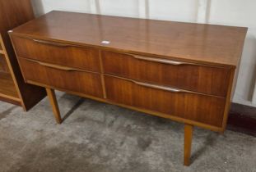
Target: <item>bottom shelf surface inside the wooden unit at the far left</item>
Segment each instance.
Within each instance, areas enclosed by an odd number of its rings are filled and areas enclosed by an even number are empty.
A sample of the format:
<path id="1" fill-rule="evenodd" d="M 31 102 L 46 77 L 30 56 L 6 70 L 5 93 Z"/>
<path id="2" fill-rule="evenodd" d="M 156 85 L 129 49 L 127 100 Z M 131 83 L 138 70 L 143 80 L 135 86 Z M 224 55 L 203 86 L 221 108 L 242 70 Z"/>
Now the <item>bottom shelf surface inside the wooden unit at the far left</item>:
<path id="1" fill-rule="evenodd" d="M 0 72 L 0 96 L 15 101 L 20 101 L 12 75 L 9 73 Z"/>

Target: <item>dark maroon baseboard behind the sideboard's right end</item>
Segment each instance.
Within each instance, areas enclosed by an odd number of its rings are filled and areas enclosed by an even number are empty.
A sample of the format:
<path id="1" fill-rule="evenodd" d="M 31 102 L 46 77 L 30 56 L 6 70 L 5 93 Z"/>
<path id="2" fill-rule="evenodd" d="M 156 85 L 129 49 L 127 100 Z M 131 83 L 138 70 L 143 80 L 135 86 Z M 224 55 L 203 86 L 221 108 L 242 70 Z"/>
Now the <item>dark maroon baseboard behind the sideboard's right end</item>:
<path id="1" fill-rule="evenodd" d="M 227 129 L 256 137 L 256 107 L 232 103 Z"/>

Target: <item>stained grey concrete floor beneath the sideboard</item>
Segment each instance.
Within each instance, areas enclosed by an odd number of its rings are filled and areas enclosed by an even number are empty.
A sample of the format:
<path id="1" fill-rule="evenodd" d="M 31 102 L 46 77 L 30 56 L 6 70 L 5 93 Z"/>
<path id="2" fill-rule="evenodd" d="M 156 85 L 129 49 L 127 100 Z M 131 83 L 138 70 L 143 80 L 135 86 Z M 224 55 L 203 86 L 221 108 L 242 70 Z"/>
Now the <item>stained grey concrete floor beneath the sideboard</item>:
<path id="1" fill-rule="evenodd" d="M 256 171 L 256 138 L 196 128 L 183 165 L 184 125 L 58 93 L 67 118 L 55 124 L 48 99 L 29 112 L 0 102 L 0 171 Z"/>

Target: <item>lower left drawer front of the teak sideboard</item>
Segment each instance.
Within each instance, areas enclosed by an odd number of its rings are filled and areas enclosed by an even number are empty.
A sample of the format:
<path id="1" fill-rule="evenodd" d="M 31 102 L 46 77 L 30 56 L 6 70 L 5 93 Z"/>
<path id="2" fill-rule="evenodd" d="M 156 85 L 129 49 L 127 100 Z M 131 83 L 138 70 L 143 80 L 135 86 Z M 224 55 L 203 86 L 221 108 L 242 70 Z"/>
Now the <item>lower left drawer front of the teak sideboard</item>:
<path id="1" fill-rule="evenodd" d="M 22 73 L 27 80 L 62 88 L 94 97 L 103 97 L 100 75 L 72 70 L 67 67 L 51 66 L 50 64 L 19 58 Z"/>

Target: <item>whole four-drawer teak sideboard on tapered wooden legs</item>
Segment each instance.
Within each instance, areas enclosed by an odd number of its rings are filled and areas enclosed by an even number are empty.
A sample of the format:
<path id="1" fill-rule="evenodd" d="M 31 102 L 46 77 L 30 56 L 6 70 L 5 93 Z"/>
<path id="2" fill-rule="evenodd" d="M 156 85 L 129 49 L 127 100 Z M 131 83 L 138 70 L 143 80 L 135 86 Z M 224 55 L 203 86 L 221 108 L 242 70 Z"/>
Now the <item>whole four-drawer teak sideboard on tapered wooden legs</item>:
<path id="1" fill-rule="evenodd" d="M 9 32 L 22 75 L 54 89 L 223 132 L 247 28 L 52 11 Z"/>

